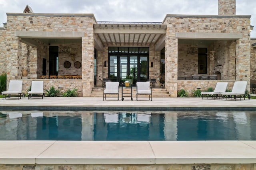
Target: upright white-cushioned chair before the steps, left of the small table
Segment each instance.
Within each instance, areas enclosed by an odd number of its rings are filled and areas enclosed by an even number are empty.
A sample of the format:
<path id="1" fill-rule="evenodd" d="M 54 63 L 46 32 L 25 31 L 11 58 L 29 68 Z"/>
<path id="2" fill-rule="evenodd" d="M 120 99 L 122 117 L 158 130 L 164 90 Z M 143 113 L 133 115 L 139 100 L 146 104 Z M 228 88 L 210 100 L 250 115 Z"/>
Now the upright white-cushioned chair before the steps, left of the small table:
<path id="1" fill-rule="evenodd" d="M 103 87 L 103 101 L 104 96 L 105 100 L 106 98 L 116 98 L 113 96 L 115 94 L 117 94 L 117 100 L 119 100 L 119 82 L 106 82 L 106 86 Z"/>

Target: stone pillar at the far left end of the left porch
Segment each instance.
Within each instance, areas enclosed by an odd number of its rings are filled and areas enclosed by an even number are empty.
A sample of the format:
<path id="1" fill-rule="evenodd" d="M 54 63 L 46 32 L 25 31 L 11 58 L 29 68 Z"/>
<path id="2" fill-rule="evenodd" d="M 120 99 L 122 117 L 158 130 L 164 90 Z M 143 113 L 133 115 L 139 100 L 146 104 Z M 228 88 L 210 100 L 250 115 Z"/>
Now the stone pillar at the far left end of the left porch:
<path id="1" fill-rule="evenodd" d="M 6 73 L 7 79 L 21 79 L 22 67 L 20 66 L 21 42 L 18 37 L 10 36 L 7 38 L 6 48 Z"/>

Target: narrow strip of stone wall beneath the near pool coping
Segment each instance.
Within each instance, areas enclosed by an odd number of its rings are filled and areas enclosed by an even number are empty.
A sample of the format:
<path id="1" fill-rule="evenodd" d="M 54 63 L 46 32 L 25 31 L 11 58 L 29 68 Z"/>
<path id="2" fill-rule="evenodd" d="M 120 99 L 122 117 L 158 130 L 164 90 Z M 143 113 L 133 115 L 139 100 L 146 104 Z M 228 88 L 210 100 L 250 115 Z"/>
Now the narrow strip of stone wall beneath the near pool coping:
<path id="1" fill-rule="evenodd" d="M 0 164 L 4 170 L 256 170 L 256 164 Z"/>

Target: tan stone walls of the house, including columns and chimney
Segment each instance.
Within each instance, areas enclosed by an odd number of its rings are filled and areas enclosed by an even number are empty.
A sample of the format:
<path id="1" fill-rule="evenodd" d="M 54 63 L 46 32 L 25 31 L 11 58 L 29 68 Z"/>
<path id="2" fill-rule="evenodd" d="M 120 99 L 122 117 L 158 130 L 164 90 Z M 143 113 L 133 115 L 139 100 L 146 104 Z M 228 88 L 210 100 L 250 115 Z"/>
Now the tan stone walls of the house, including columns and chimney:
<path id="1" fill-rule="evenodd" d="M 34 14 L 34 13 L 7 13 L 7 27 L 0 29 L 1 44 L 0 56 L 1 72 L 7 73 L 8 80 L 21 79 L 21 72 L 26 69 L 28 79 L 38 79 L 43 74 L 43 59 L 46 60 L 46 75 L 49 74 L 49 48 L 50 46 L 68 47 L 70 53 L 59 53 L 59 75 L 82 75 L 82 96 L 90 96 L 96 86 L 102 86 L 103 78 L 108 78 L 108 47 L 149 47 L 149 77 L 156 78 L 159 85 L 160 76 L 160 48 L 165 50 L 165 88 L 176 97 L 179 77 L 190 77 L 198 74 L 198 55 L 188 55 L 190 43 L 179 43 L 177 34 L 190 34 L 184 39 L 210 39 L 211 44 L 196 47 L 207 48 L 207 75 L 218 74 L 218 80 L 248 81 L 255 79 L 255 48 L 251 48 L 254 41 L 250 40 L 250 16 L 236 16 L 235 0 L 218 0 L 219 15 L 166 15 L 162 25 L 166 31 L 154 43 L 122 43 L 111 40 L 111 43 L 98 41 L 100 34 L 94 31 L 97 23 L 93 14 Z M 102 32 L 112 29 L 116 25 L 102 25 Z M 148 28 L 148 25 L 147 29 Z M 109 28 L 108 28 L 109 27 Z M 146 35 L 146 29 L 118 28 L 120 31 L 128 30 L 130 35 L 136 31 Z M 141 26 L 143 27 L 143 25 Z M 134 32 L 132 31 L 134 30 Z M 145 33 L 142 31 L 145 30 Z M 155 31 L 155 30 L 154 30 Z M 78 37 L 76 33 L 81 33 Z M 198 38 L 199 34 L 204 36 Z M 139 33 L 137 33 L 139 34 Z M 228 38 L 219 39 L 216 34 L 228 35 Z M 32 36 L 29 41 L 27 36 Z M 149 35 L 149 34 L 148 34 Z M 129 36 L 129 35 L 128 35 Z M 24 38 L 25 37 L 25 38 Z M 60 43 L 48 44 L 42 39 L 58 38 Z M 79 43 L 67 43 L 65 39 L 79 38 Z M 146 36 L 145 36 L 146 37 Z M 163 37 L 163 38 L 162 38 Z M 234 37 L 234 38 L 232 38 Z M 146 38 L 149 39 L 150 37 Z M 105 37 L 105 39 L 107 39 Z M 151 41 L 152 42 L 152 41 Z M 161 46 L 161 42 L 164 44 Z M 94 49 L 96 50 L 97 65 L 94 68 Z M 102 48 L 100 48 L 102 47 Z M 65 61 L 71 63 L 70 68 L 64 68 Z M 74 68 L 74 62 L 81 62 L 81 68 Z M 104 63 L 106 62 L 106 66 Z M 151 67 L 151 62 L 153 66 Z M 251 67 L 250 67 L 251 64 Z M 96 71 L 96 74 L 94 73 Z M 94 74 L 96 79 L 94 80 Z M 56 86 L 58 82 L 56 82 Z M 193 83 L 192 83 L 193 84 Z M 195 88 L 195 87 L 193 87 Z"/>

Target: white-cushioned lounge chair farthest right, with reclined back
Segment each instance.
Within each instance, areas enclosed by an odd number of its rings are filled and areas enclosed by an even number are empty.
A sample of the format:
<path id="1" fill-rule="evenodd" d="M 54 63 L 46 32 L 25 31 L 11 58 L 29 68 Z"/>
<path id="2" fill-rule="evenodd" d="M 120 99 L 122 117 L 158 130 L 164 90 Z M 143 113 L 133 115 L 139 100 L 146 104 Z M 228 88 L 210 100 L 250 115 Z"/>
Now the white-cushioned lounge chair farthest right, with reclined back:
<path id="1" fill-rule="evenodd" d="M 232 88 L 231 92 L 223 92 L 221 93 L 221 100 L 222 98 L 231 98 L 232 96 L 234 96 L 234 99 L 236 100 L 236 98 L 241 98 L 244 97 L 245 100 L 245 91 L 246 91 L 246 86 L 247 86 L 247 81 L 237 81 L 234 82 L 234 86 Z M 250 99 L 250 96 L 248 97 Z"/>

